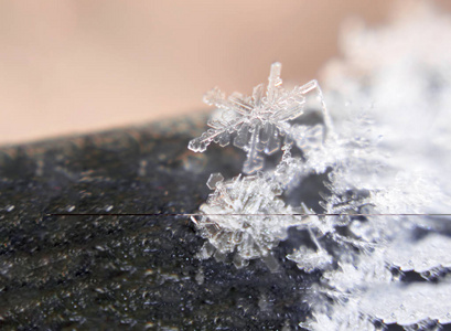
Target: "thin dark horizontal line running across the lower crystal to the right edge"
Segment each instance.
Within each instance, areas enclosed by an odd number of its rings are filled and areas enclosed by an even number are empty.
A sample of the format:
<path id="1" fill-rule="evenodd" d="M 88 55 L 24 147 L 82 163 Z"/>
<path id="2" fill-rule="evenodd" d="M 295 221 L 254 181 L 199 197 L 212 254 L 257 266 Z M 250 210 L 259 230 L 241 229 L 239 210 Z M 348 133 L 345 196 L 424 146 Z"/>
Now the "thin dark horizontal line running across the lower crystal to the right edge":
<path id="1" fill-rule="evenodd" d="M 202 214 L 202 213 L 47 213 L 45 216 L 451 216 L 451 214 Z"/>

